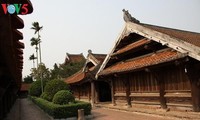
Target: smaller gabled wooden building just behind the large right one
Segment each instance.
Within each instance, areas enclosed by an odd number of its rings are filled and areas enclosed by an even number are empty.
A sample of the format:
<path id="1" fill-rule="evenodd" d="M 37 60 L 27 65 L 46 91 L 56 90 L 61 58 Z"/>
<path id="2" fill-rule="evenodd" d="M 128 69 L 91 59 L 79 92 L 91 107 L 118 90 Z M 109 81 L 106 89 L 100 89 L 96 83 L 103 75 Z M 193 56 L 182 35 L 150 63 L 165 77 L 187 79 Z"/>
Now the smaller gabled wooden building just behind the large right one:
<path id="1" fill-rule="evenodd" d="M 88 51 L 87 59 L 84 67 L 68 77 L 65 82 L 70 85 L 70 88 L 78 100 L 91 102 L 92 105 L 99 101 L 99 89 L 97 89 L 97 81 L 95 75 L 100 68 L 106 55 L 94 54 L 91 50 Z"/>

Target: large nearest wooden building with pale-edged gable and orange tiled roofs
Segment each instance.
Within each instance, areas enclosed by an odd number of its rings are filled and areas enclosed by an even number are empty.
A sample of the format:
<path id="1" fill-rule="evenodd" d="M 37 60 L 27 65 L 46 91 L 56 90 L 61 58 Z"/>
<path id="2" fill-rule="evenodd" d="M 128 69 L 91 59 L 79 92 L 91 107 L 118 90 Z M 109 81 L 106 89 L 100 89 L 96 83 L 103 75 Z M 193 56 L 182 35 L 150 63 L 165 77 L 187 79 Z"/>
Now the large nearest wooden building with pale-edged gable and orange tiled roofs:
<path id="1" fill-rule="evenodd" d="M 126 20 L 125 20 L 126 21 Z M 97 81 L 113 105 L 200 111 L 200 33 L 126 21 Z"/>

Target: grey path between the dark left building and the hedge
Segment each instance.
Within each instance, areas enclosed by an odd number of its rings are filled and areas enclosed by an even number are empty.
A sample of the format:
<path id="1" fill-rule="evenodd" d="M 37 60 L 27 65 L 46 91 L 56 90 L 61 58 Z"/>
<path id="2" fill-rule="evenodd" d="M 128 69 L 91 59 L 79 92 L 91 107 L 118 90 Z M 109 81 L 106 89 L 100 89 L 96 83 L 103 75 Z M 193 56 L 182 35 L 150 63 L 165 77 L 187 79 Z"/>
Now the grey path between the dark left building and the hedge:
<path id="1" fill-rule="evenodd" d="M 5 120 L 50 120 L 50 118 L 30 100 L 17 99 Z"/>

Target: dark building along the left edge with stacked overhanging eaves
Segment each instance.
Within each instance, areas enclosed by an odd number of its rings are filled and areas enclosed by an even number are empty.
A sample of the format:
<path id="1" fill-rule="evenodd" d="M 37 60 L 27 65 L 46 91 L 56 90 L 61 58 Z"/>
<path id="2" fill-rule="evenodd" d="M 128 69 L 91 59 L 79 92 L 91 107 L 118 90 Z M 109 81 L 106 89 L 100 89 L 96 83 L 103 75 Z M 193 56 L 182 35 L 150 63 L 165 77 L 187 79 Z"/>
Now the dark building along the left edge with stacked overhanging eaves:
<path id="1" fill-rule="evenodd" d="M 29 0 L 4 0 L 0 3 L 27 4 L 27 14 L 33 11 Z M 5 14 L 0 7 L 0 119 L 9 112 L 21 87 L 24 43 L 18 29 L 23 27 L 24 22 L 18 15 Z"/>

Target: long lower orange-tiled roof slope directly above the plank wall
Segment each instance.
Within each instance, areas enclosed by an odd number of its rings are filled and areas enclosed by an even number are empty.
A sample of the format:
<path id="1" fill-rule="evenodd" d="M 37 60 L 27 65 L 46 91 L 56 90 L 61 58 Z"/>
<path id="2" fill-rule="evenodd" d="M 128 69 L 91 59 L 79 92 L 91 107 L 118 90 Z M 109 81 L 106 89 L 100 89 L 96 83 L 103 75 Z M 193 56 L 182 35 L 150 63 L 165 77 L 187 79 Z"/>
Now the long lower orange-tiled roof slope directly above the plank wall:
<path id="1" fill-rule="evenodd" d="M 184 56 L 185 56 L 184 54 L 179 53 L 177 51 L 172 51 L 172 50 L 161 51 L 155 54 L 149 54 L 131 60 L 127 60 L 124 62 L 119 62 L 108 68 L 105 68 L 103 71 L 100 72 L 99 75 L 109 75 L 114 73 L 133 71 L 139 68 L 176 60 Z"/>

